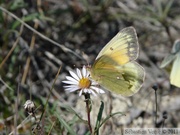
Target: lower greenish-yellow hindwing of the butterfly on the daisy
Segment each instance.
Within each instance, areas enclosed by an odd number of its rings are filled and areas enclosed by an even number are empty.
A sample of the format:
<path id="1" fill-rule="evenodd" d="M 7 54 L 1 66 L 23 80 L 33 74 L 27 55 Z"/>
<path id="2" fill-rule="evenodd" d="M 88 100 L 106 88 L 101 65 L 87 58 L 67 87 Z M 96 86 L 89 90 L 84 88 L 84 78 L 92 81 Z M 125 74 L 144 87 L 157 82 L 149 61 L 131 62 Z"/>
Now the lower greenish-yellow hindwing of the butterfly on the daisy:
<path id="1" fill-rule="evenodd" d="M 123 96 L 135 94 L 144 81 L 144 69 L 135 61 L 121 66 L 110 57 L 102 56 L 92 68 L 91 76 L 100 86 Z"/>

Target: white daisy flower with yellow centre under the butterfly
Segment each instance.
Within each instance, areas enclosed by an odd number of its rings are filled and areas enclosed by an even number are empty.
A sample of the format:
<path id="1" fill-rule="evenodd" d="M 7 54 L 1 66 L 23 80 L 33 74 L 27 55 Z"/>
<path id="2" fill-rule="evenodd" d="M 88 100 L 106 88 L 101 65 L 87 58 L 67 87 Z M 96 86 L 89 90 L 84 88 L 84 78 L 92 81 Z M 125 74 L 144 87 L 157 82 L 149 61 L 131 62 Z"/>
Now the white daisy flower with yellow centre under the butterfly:
<path id="1" fill-rule="evenodd" d="M 98 83 L 90 80 L 90 73 L 85 66 L 83 66 L 81 71 L 77 68 L 76 72 L 69 71 L 69 73 L 71 76 L 66 76 L 67 80 L 62 81 L 63 83 L 69 84 L 64 86 L 66 91 L 74 92 L 78 90 L 79 96 L 83 93 L 93 94 L 94 96 L 105 93 L 104 90 L 99 88 Z"/>

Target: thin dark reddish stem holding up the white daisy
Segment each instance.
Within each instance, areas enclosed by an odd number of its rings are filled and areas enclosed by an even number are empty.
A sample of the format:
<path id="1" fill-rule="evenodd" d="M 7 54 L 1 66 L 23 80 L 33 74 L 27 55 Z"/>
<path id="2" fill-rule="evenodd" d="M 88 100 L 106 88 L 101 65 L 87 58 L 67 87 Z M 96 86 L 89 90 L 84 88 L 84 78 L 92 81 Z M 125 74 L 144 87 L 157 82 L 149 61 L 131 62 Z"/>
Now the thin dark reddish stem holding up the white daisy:
<path id="1" fill-rule="evenodd" d="M 90 99 L 90 94 L 85 93 L 85 102 L 86 102 L 86 111 L 87 111 L 87 117 L 88 117 L 88 126 L 89 126 L 89 131 L 92 134 L 92 127 L 91 127 L 91 117 L 90 117 L 90 112 L 91 112 L 91 99 Z"/>

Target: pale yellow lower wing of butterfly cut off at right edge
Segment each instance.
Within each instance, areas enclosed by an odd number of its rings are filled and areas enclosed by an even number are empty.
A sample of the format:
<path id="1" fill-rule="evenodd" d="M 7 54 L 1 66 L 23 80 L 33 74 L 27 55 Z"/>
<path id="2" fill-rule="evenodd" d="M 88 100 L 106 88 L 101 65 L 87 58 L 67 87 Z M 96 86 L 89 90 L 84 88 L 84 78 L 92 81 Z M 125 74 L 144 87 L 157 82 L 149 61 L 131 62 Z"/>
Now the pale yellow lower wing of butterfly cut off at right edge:
<path id="1" fill-rule="evenodd" d="M 180 52 L 176 55 L 176 59 L 173 62 L 170 82 L 172 85 L 180 87 Z"/>

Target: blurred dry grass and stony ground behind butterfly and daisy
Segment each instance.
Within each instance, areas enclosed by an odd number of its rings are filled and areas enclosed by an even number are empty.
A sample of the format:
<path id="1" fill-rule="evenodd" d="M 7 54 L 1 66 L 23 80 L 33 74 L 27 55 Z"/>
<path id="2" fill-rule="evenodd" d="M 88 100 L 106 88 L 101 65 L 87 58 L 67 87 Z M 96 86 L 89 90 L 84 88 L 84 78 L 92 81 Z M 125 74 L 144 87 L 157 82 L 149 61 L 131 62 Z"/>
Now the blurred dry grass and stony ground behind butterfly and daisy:
<path id="1" fill-rule="evenodd" d="M 146 71 L 143 87 L 129 98 L 108 91 L 92 97 L 92 127 L 101 100 L 103 118 L 114 112 L 126 114 L 110 118 L 101 134 L 120 134 L 131 127 L 180 127 L 180 90 L 169 83 L 171 65 L 160 68 L 180 38 L 179 7 L 179 0 L 1 0 L 0 134 L 12 134 L 15 127 L 17 134 L 32 134 L 36 120 L 23 107 L 28 99 L 37 107 L 37 119 L 48 101 L 41 134 L 68 134 L 61 120 L 76 134 L 88 133 L 88 126 L 77 117 L 87 120 L 84 97 L 65 92 L 62 81 L 69 70 L 91 65 L 103 46 L 128 26 L 136 29 L 139 38 L 137 61 Z"/>

